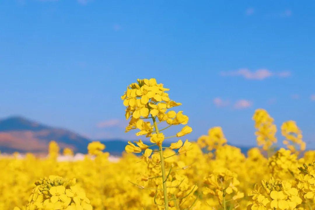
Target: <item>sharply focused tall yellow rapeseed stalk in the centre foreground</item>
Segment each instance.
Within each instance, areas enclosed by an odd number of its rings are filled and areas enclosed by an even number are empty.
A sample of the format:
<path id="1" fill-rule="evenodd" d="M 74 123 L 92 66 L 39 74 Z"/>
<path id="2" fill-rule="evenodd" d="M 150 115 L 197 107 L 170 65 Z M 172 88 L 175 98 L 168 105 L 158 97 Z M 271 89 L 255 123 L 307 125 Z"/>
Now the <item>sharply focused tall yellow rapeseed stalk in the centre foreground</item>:
<path id="1" fill-rule="evenodd" d="M 150 175 L 143 175 L 141 177 L 140 182 L 145 182 L 142 185 L 139 184 L 139 182 L 130 182 L 141 189 L 155 190 L 154 203 L 156 205 L 164 207 L 165 210 L 169 210 L 169 206 L 174 205 L 177 210 L 180 210 L 177 202 L 183 201 L 188 196 L 192 195 L 193 192 L 197 190 L 197 187 L 194 186 L 189 190 L 182 188 L 181 184 L 186 180 L 186 177 L 179 176 L 176 172 L 181 169 L 186 169 L 187 167 L 174 169 L 173 164 L 167 165 L 165 161 L 177 154 L 184 154 L 188 150 L 191 150 L 192 144 L 188 140 L 186 140 L 184 144 L 182 140 L 178 140 L 169 147 L 163 147 L 162 143 L 164 139 L 178 138 L 191 133 L 192 128 L 185 126 L 176 133 L 176 135 L 164 137 L 161 131 L 174 125 L 186 125 L 188 123 L 188 116 L 183 115 L 182 111 L 176 113 L 173 110 L 169 110 L 181 104 L 169 99 L 169 94 L 166 93 L 168 90 L 168 88 L 164 88 L 163 84 L 158 84 L 153 78 L 138 79 L 136 83 L 132 83 L 127 87 L 127 90 L 121 97 L 123 104 L 126 106 L 126 119 L 129 120 L 126 132 L 138 129 L 139 131 L 136 135 L 149 137 L 153 144 L 146 145 L 141 139 L 134 142 L 136 145 L 129 141 L 125 150 L 127 153 L 142 153 L 141 160 L 147 163 L 149 169 L 146 174 Z M 165 127 L 159 129 L 158 124 L 160 123 L 165 124 Z M 157 149 L 152 150 L 150 148 Z M 172 150 L 176 150 L 176 152 Z M 153 155 L 150 159 L 152 153 Z M 155 153 L 159 154 L 159 156 L 156 156 Z M 167 166 L 169 166 L 169 169 L 167 169 Z M 148 183 L 148 180 L 153 179 L 160 179 L 160 181 L 153 182 L 152 186 L 152 184 L 150 185 Z M 175 183 L 175 186 L 168 186 L 167 183 L 173 185 Z M 181 197 L 174 195 L 174 189 L 181 191 L 177 193 L 181 195 Z M 159 193 L 160 191 L 163 191 L 163 194 Z M 172 193 L 170 191 L 172 191 Z M 163 204 L 159 201 L 163 201 Z M 192 208 L 192 206 L 186 209 L 190 208 Z"/>

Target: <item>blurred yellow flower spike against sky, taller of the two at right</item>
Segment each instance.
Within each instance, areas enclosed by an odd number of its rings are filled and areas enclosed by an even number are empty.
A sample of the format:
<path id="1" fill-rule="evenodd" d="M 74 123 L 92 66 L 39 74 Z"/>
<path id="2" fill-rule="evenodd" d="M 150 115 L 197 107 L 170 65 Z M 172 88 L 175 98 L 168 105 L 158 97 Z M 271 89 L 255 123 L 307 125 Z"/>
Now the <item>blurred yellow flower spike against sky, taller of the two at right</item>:
<path id="1" fill-rule="evenodd" d="M 262 146 L 264 150 L 268 150 L 273 143 L 277 143 L 277 138 L 275 137 L 277 127 L 273 124 L 273 118 L 269 116 L 266 110 L 257 109 L 253 115 L 253 120 L 257 129 L 255 132 L 257 144 Z"/>

